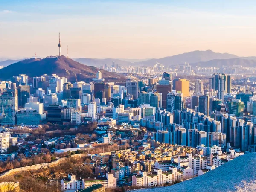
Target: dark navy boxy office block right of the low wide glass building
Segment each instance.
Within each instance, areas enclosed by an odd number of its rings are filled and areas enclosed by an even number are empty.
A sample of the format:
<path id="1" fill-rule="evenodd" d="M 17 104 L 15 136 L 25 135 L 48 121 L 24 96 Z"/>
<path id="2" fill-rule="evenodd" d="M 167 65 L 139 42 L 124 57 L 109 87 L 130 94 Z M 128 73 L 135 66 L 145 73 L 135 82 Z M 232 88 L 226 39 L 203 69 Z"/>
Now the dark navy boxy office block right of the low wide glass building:
<path id="1" fill-rule="evenodd" d="M 61 124 L 61 106 L 49 105 L 47 107 L 47 122 Z"/>

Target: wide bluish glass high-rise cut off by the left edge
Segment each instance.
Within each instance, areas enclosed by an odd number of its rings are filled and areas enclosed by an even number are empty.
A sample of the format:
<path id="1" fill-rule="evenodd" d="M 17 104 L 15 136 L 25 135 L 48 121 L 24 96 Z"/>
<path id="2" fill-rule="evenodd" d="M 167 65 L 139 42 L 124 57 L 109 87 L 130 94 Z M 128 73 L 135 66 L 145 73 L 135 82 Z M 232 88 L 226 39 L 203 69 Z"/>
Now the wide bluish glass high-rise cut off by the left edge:
<path id="1" fill-rule="evenodd" d="M 17 91 L 12 90 L 10 92 L 0 95 L 0 125 L 15 125 L 16 113 L 18 111 L 18 97 Z"/>

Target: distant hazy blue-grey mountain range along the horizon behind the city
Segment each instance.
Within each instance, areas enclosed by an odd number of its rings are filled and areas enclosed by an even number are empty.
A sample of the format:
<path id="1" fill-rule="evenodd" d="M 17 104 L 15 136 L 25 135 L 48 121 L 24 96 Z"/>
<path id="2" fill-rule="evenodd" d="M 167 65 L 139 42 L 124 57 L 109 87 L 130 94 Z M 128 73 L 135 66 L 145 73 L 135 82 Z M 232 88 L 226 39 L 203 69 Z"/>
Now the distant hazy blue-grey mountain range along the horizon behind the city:
<path id="1" fill-rule="evenodd" d="M 191 64 L 192 66 L 233 66 L 233 65 L 243 65 L 247 67 L 256 66 L 256 57 L 239 57 L 237 55 L 229 53 L 217 53 L 211 50 L 206 51 L 192 51 L 186 52 L 179 55 L 168 56 L 164 58 L 151 58 L 147 60 L 137 60 L 137 59 L 117 59 L 117 58 L 73 58 L 74 61 L 78 61 L 81 64 L 88 66 L 100 67 L 111 66 L 113 62 L 121 66 L 154 66 L 157 62 L 165 66 L 183 64 L 185 62 Z M 0 61 L 0 66 L 7 66 L 17 61 L 6 60 Z"/>

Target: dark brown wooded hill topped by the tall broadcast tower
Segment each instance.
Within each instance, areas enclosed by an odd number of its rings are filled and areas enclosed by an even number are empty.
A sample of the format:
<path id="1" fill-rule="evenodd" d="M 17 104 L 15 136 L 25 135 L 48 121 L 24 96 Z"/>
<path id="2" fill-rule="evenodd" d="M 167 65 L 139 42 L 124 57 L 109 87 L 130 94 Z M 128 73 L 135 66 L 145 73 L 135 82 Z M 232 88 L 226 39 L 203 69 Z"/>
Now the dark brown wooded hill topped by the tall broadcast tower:
<path id="1" fill-rule="evenodd" d="M 57 74 L 58 76 L 67 77 L 71 82 L 76 81 L 76 78 L 78 81 L 91 81 L 92 78 L 96 78 L 98 71 L 99 69 L 96 67 L 81 64 L 65 56 L 47 57 L 44 59 L 30 58 L 0 69 L 0 80 L 7 80 L 19 74 L 26 74 L 30 78 L 43 74 Z M 116 83 L 125 82 L 125 76 L 122 74 L 108 72 L 106 70 L 100 71 L 102 78 L 105 78 L 106 81 Z"/>

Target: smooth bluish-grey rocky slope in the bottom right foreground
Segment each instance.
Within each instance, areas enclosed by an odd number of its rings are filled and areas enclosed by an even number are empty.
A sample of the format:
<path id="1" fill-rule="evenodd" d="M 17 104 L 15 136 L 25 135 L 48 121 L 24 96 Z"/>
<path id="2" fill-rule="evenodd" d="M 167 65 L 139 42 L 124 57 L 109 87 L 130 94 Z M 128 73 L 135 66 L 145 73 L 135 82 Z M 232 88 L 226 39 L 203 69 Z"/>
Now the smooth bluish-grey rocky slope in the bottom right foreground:
<path id="1" fill-rule="evenodd" d="M 194 179 L 138 192 L 253 192 L 256 191 L 256 153 L 245 154 Z"/>

